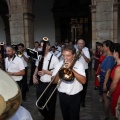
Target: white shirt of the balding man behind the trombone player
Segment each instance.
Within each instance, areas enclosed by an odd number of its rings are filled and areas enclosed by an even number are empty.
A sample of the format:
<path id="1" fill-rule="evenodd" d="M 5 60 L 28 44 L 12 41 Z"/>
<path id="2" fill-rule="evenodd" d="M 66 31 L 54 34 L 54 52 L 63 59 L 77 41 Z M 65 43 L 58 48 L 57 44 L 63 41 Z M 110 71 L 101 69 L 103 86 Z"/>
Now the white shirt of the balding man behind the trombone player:
<path id="1" fill-rule="evenodd" d="M 84 47 L 82 52 L 88 59 L 90 59 L 90 53 L 87 47 Z M 88 63 L 85 61 L 83 56 L 80 56 L 79 61 L 84 65 L 85 69 L 88 69 Z"/>

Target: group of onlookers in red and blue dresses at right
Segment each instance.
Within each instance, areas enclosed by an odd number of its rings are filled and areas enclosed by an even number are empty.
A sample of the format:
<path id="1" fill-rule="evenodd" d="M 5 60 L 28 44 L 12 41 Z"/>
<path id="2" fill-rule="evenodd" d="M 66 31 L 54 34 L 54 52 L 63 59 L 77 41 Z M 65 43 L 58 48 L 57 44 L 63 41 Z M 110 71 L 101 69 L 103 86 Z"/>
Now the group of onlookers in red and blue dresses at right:
<path id="1" fill-rule="evenodd" d="M 105 119 L 110 113 L 120 119 L 120 44 L 106 40 L 96 43 L 92 52 L 92 67 L 95 73 L 95 90 L 99 90 L 100 102 L 104 103 Z"/>

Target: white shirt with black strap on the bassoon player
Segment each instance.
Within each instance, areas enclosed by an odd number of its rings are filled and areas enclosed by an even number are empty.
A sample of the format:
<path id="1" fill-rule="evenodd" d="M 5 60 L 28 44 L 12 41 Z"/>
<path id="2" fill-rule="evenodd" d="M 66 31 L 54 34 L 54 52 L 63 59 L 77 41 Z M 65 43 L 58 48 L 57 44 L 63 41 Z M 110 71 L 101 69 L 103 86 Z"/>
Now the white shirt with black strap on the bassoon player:
<path id="1" fill-rule="evenodd" d="M 43 69 L 44 70 L 48 70 L 48 64 L 49 64 L 49 61 L 50 61 L 50 58 L 51 58 L 51 53 L 49 52 L 47 54 L 47 56 L 44 58 L 44 62 L 43 62 Z M 39 61 L 37 60 L 36 61 L 36 66 L 38 66 L 38 63 Z M 53 71 L 53 69 L 55 68 L 55 66 L 59 63 L 59 60 L 56 56 L 52 56 L 52 59 L 51 59 L 51 63 L 50 63 L 50 67 L 49 69 L 52 69 L 51 71 Z M 51 81 L 51 75 L 48 75 L 48 74 L 45 74 L 43 76 L 40 77 L 40 80 L 42 82 L 50 82 Z"/>

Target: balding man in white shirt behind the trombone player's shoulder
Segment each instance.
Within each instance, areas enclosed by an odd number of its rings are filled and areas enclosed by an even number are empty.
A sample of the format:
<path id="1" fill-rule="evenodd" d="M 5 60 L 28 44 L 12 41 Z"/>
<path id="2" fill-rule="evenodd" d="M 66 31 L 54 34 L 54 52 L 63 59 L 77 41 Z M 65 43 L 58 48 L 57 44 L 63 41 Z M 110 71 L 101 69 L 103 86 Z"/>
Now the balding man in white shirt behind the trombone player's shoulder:
<path id="1" fill-rule="evenodd" d="M 86 83 L 83 85 L 83 91 L 81 93 L 82 107 L 85 107 L 85 97 L 86 97 L 87 85 L 88 85 L 88 63 L 90 62 L 90 53 L 88 48 L 85 47 L 84 39 L 78 39 L 77 46 L 78 46 L 78 50 L 82 51 L 79 61 L 84 65 L 85 73 L 86 73 Z"/>

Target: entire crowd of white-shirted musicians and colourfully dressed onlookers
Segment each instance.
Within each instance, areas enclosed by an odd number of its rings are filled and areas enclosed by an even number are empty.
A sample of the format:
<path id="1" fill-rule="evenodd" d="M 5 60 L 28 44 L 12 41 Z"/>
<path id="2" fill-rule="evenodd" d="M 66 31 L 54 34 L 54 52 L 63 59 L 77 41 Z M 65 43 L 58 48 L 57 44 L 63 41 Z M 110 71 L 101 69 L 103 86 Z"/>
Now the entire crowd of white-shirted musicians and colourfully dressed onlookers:
<path id="1" fill-rule="evenodd" d="M 85 98 L 90 61 L 92 61 L 94 70 L 94 73 L 91 74 L 95 75 L 95 90 L 99 91 L 99 100 L 104 103 L 104 120 L 109 120 L 111 113 L 116 120 L 120 117 L 119 43 L 113 43 L 111 40 L 102 43 L 96 42 L 96 49 L 89 50 L 85 46 L 83 38 L 79 38 L 75 45 L 72 42 L 62 43 L 61 45 L 55 42 L 53 46 L 50 46 L 49 41 L 42 40 L 35 42 L 33 50 L 38 51 L 40 54 L 42 52 L 41 59 L 38 60 L 29 56 L 23 43 L 19 43 L 16 47 L 12 45 L 5 46 L 5 67 L 0 55 L 0 68 L 4 69 L 19 85 L 23 101 L 26 101 L 26 94 L 29 91 L 28 83 L 29 85 L 36 85 L 36 99 L 38 99 L 53 80 L 44 97 L 38 102 L 39 107 L 45 104 L 45 101 L 56 88 L 57 83 L 60 83 L 58 92 L 54 92 L 44 109 L 39 109 L 43 120 L 55 119 L 57 94 L 59 95 L 63 119 L 79 120 L 80 106 L 86 107 Z M 80 52 L 80 55 L 75 61 L 78 52 Z M 18 56 L 18 54 L 22 55 Z M 27 80 L 28 61 L 30 61 L 31 66 L 29 81 Z M 74 79 L 69 81 L 61 78 L 59 75 L 61 68 L 69 70 L 71 66 Z M 69 75 L 65 76 L 68 77 Z"/>

